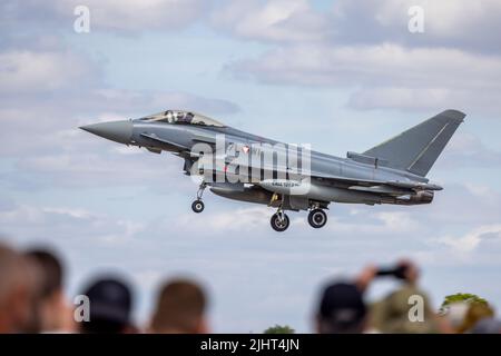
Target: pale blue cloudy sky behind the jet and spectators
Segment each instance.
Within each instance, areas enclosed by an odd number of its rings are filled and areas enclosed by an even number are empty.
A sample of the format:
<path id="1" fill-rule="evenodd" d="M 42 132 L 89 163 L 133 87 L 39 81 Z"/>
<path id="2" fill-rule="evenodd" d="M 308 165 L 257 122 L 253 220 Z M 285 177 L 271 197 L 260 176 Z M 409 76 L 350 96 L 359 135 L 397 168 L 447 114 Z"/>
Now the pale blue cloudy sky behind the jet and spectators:
<path id="1" fill-rule="evenodd" d="M 413 4 L 424 33 L 409 32 Z M 56 247 L 69 294 L 125 275 L 140 323 L 183 275 L 207 287 L 216 332 L 310 332 L 324 281 L 403 256 L 435 306 L 469 291 L 501 308 L 500 18 L 497 0 L 2 1 L 2 239 Z M 325 228 L 291 214 L 277 235 L 271 209 L 210 194 L 195 216 L 178 158 L 77 129 L 167 108 L 338 156 L 444 109 L 468 117 L 431 171 L 445 186 L 431 206 L 333 205 Z"/>

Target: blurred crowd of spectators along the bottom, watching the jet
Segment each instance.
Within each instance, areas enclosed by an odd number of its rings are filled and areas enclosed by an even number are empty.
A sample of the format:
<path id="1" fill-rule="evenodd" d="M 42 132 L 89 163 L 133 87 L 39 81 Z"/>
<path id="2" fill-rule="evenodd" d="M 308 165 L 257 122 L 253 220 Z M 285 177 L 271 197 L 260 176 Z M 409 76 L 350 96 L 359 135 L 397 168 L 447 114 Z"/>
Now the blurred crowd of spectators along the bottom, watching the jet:
<path id="1" fill-rule="evenodd" d="M 380 277 L 399 286 L 376 303 L 365 294 Z M 392 268 L 367 266 L 354 279 L 335 280 L 320 290 L 314 328 L 321 334 L 501 333 L 487 303 L 461 300 L 440 313 L 419 286 L 420 270 L 410 260 Z M 65 294 L 65 268 L 49 249 L 16 250 L 0 243 L 0 333 L 206 334 L 207 296 L 188 279 L 159 288 L 146 326 L 132 322 L 134 295 L 128 281 L 99 276 L 80 290 L 81 304 Z"/>

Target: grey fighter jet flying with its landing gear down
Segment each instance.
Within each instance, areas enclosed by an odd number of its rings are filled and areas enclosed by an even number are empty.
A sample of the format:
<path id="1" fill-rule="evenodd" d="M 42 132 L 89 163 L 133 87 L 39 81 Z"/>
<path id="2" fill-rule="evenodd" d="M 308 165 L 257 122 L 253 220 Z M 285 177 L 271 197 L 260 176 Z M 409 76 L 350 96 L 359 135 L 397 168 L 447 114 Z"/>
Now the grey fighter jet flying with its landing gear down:
<path id="1" fill-rule="evenodd" d="M 184 171 L 199 177 L 195 212 L 203 194 L 275 208 L 272 228 L 285 231 L 285 211 L 307 210 L 313 228 L 327 222 L 331 202 L 422 205 L 442 190 L 426 178 L 465 115 L 445 110 L 406 131 L 346 158 L 237 130 L 189 110 L 166 110 L 138 119 L 80 127 L 106 139 L 167 151 L 184 159 Z M 202 178 L 202 179 L 200 179 Z"/>

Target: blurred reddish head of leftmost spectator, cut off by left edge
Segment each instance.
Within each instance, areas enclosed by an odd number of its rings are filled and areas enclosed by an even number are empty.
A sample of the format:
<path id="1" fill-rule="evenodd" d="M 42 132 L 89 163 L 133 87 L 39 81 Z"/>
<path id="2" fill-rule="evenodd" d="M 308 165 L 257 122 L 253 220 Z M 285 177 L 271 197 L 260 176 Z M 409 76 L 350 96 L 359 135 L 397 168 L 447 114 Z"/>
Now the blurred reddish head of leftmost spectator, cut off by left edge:
<path id="1" fill-rule="evenodd" d="M 0 334 L 31 332 L 33 283 L 26 258 L 0 244 Z"/>

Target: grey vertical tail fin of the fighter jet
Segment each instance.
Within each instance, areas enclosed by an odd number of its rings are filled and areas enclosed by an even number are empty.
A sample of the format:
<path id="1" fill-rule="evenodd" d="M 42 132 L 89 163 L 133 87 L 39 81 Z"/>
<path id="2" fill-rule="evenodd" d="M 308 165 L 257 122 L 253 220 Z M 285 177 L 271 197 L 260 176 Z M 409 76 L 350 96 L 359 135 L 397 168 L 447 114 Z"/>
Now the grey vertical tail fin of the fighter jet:
<path id="1" fill-rule="evenodd" d="M 445 110 L 380 144 L 363 155 L 385 159 L 389 166 L 426 176 L 465 115 Z"/>

